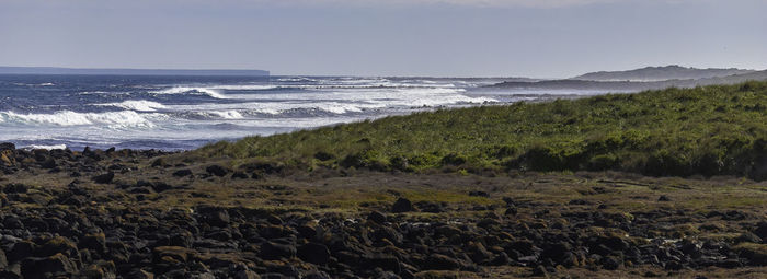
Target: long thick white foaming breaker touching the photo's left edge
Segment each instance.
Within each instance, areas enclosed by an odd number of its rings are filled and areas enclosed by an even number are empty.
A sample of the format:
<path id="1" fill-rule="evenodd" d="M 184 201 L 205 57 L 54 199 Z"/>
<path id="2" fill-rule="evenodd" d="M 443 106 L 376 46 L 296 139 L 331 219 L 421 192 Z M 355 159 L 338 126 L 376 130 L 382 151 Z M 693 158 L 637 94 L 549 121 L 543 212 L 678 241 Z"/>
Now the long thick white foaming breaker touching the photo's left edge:
<path id="1" fill-rule="evenodd" d="M 0 123 L 22 125 L 85 126 L 107 125 L 111 128 L 153 127 L 153 124 L 133 111 L 107 113 L 76 113 L 60 111 L 53 114 L 18 114 L 0 112 Z"/>

